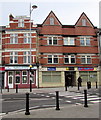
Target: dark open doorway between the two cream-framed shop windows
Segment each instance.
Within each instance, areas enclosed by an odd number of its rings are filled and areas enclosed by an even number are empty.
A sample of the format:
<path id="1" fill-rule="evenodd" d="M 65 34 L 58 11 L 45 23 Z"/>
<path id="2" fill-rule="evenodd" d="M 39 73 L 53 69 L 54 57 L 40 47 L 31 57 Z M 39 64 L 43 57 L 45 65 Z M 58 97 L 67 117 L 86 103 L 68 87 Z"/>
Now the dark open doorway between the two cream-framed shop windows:
<path id="1" fill-rule="evenodd" d="M 74 71 L 65 72 L 65 86 L 75 86 L 76 85 L 76 73 Z"/>

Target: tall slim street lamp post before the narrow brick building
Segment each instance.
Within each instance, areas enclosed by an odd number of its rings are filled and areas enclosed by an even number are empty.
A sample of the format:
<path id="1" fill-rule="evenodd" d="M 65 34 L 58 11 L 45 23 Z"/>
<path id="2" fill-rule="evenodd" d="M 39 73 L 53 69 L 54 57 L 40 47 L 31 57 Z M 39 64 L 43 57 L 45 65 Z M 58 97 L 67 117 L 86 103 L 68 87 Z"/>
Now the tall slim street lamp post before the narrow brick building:
<path id="1" fill-rule="evenodd" d="M 31 14 L 32 14 L 32 11 L 33 11 L 33 9 L 36 9 L 37 8 L 37 6 L 36 5 L 33 5 L 33 6 L 31 6 L 31 3 L 30 3 L 30 83 L 32 83 L 31 81 L 32 81 L 32 79 L 31 79 L 31 68 L 32 68 L 32 39 L 31 39 L 31 26 L 32 26 L 32 24 L 31 24 Z M 30 85 L 31 86 L 31 85 Z"/>

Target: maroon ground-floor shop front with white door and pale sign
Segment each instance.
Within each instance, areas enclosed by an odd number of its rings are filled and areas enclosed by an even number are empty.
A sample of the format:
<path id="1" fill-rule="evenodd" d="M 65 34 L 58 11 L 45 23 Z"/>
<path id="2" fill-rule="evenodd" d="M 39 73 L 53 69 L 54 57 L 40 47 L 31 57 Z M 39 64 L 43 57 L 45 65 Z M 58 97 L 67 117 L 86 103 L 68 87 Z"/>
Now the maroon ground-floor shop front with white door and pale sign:
<path id="1" fill-rule="evenodd" d="M 34 66 L 32 69 L 32 87 L 36 87 L 36 70 Z M 15 88 L 18 85 L 19 88 L 30 87 L 30 68 L 25 66 L 9 66 L 5 67 L 5 88 Z"/>

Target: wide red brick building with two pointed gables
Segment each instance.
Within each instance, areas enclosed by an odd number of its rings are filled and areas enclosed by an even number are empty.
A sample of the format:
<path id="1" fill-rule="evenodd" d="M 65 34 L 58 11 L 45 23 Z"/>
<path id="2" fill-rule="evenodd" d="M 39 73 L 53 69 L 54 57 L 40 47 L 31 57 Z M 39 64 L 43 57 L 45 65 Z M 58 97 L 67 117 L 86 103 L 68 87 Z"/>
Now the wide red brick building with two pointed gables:
<path id="1" fill-rule="evenodd" d="M 69 18 L 70 19 L 70 18 Z M 51 11 L 39 29 L 39 86 L 75 86 L 99 81 L 97 28 L 85 13 L 75 25 L 62 25 Z"/>

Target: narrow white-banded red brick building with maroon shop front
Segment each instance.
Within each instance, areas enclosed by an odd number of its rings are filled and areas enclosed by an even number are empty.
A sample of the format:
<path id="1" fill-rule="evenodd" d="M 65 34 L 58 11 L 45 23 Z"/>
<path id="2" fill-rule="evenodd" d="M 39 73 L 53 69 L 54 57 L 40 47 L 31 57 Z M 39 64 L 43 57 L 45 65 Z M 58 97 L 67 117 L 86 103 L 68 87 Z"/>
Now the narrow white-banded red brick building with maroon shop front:
<path id="1" fill-rule="evenodd" d="M 9 86 L 9 88 L 15 88 L 15 85 L 18 84 L 19 88 L 29 88 L 30 52 L 31 63 L 33 65 L 32 86 L 36 87 L 36 36 L 36 27 L 34 27 L 29 17 L 13 17 L 9 15 L 9 25 L 6 26 L 5 39 L 2 40 L 2 62 L 5 65 L 5 87 Z"/>

